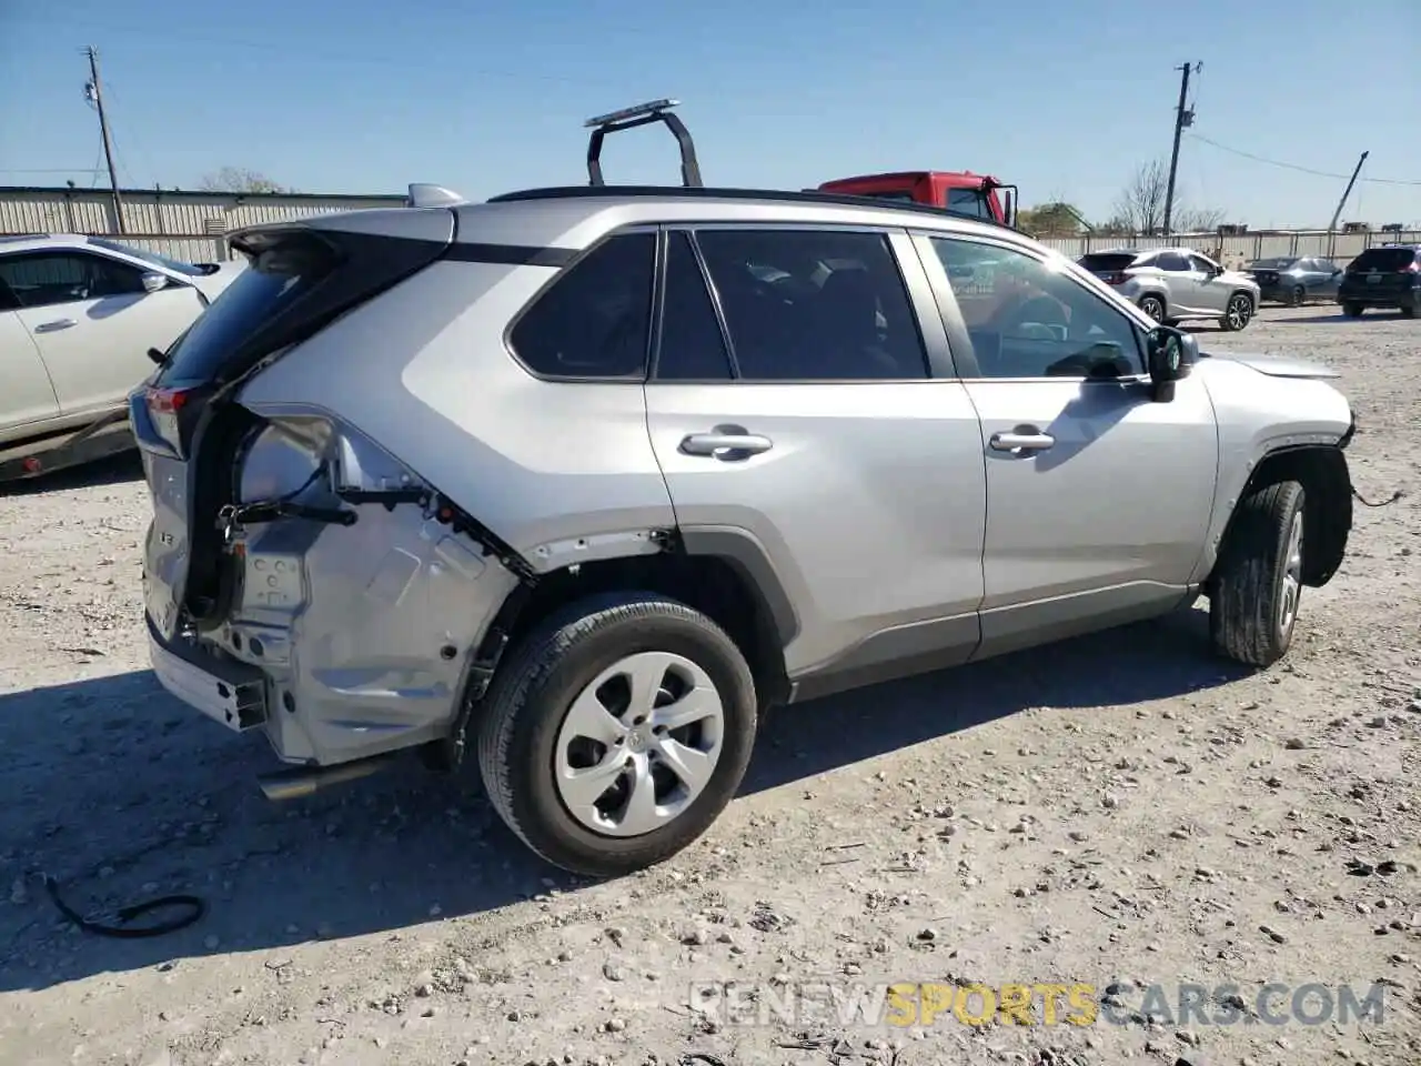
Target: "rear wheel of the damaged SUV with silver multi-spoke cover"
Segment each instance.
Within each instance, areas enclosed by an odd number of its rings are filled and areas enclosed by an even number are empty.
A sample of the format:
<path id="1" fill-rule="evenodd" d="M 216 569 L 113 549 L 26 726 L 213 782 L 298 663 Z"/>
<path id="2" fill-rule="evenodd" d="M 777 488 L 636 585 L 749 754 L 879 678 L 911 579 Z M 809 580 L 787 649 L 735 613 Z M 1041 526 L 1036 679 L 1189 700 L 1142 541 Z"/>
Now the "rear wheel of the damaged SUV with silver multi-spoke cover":
<path id="1" fill-rule="evenodd" d="M 755 681 L 706 615 L 655 593 L 568 604 L 493 679 L 479 768 L 493 807 L 554 866 L 617 877 L 699 837 L 735 796 Z"/>

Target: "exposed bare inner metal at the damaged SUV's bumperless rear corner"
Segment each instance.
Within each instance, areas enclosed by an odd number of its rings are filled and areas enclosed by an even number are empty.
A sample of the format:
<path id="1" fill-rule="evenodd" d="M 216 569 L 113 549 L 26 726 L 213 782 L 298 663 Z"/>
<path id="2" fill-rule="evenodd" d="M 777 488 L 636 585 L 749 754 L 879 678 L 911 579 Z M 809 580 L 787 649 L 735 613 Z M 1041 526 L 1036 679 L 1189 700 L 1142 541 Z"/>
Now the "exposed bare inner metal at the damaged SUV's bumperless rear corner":
<path id="1" fill-rule="evenodd" d="M 253 408 L 293 416 L 290 405 Z M 310 408 L 300 411 L 296 418 L 310 419 Z M 342 489 L 411 480 L 355 432 L 320 446 Z M 281 480 L 273 455 L 280 461 L 279 448 L 253 456 L 253 482 Z M 320 483 L 296 499 L 340 503 Z M 266 671 L 267 735 L 293 762 L 347 762 L 448 735 L 479 637 L 517 586 L 477 543 L 418 505 L 355 510 L 351 526 L 249 526 L 237 605 L 213 634 L 227 654 Z"/>

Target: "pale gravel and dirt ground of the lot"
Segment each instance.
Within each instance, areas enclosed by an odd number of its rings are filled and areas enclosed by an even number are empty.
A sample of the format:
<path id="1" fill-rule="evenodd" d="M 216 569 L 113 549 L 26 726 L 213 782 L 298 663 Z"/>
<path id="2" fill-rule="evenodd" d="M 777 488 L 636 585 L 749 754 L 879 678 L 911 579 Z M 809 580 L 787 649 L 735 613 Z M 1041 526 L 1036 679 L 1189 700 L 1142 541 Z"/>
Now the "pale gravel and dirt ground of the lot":
<path id="1" fill-rule="evenodd" d="M 266 802 L 266 745 L 146 669 L 135 463 L 0 495 L 0 1063 L 1421 1062 L 1421 323 L 1201 340 L 1343 371 L 1358 490 L 1408 493 L 1358 507 L 1285 664 L 1212 658 L 1196 610 L 783 711 L 702 841 L 603 884 L 531 858 L 472 775 Z M 44 873 L 87 912 L 209 911 L 107 940 Z M 691 1009 L 726 979 L 749 1018 Z M 791 1016 L 796 982 L 1090 984 L 1123 1023 L 845 1023 Z M 1339 1021 L 1341 985 L 1381 1021 Z"/>

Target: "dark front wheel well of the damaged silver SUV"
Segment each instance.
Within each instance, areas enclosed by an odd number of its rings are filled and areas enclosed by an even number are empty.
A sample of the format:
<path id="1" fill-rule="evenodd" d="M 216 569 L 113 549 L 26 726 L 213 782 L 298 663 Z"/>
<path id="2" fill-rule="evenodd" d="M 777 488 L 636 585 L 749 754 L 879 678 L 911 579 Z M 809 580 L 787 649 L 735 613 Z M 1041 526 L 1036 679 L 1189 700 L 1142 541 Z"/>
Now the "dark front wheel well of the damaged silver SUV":
<path id="1" fill-rule="evenodd" d="M 1351 532 L 1351 478 L 1347 459 L 1336 445 L 1300 445 L 1280 448 L 1263 456 L 1253 469 L 1239 499 L 1265 485 L 1297 482 L 1303 486 L 1303 584 L 1319 588 L 1341 566 Z M 1233 516 L 1223 530 L 1223 542 L 1233 530 Z"/>

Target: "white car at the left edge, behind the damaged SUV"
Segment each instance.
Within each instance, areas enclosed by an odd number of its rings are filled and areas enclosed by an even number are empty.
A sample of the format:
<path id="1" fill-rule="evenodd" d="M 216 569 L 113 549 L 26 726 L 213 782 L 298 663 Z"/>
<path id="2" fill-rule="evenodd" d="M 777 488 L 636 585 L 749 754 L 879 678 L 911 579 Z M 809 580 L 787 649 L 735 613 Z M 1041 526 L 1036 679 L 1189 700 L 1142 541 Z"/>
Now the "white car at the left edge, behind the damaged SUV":
<path id="1" fill-rule="evenodd" d="M 244 269 L 104 237 L 0 237 L 0 480 L 132 446 L 128 392 Z"/>

